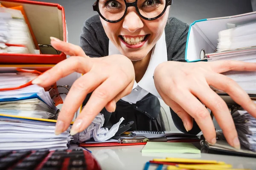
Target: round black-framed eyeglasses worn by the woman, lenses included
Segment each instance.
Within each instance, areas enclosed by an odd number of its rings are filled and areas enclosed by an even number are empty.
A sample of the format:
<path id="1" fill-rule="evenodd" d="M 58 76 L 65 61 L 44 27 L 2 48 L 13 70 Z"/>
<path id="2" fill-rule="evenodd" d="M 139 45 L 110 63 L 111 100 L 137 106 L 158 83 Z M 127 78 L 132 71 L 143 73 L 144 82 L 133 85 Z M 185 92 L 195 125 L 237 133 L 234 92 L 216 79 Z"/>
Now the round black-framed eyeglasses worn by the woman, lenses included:
<path id="1" fill-rule="evenodd" d="M 117 23 L 124 19 L 128 7 L 134 6 L 144 20 L 156 20 L 169 5 L 172 5 L 172 0 L 135 0 L 133 3 L 126 0 L 97 0 L 93 4 L 93 11 L 97 11 L 103 20 Z"/>

